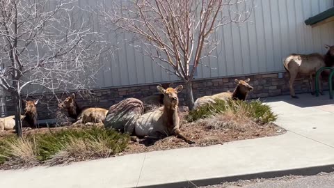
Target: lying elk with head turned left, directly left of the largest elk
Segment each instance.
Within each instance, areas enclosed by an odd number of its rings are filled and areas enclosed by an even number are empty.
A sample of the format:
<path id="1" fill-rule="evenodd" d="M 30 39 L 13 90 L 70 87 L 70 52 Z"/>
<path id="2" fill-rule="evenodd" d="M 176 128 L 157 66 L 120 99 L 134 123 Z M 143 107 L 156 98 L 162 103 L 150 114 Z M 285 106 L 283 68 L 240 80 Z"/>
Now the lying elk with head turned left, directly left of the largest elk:
<path id="1" fill-rule="evenodd" d="M 59 102 L 58 104 L 60 109 L 65 109 L 65 111 L 67 111 L 70 118 L 74 118 L 74 120 L 76 120 L 73 125 L 78 125 L 81 123 L 85 125 L 90 125 L 91 123 L 99 123 L 103 125 L 108 110 L 95 107 L 81 109 L 74 99 L 75 95 L 73 93 L 69 97 L 66 97 L 63 102 Z"/>

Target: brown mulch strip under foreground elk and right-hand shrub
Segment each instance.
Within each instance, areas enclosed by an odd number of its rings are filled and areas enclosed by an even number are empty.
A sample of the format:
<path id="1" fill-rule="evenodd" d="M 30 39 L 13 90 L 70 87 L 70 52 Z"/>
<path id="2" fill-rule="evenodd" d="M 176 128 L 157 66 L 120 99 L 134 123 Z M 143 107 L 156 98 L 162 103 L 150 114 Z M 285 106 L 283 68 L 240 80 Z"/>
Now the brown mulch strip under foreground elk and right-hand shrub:
<path id="1" fill-rule="evenodd" d="M 250 126 L 248 130 L 244 132 L 233 129 L 216 130 L 214 127 L 203 125 L 201 123 L 185 123 L 182 125 L 180 130 L 187 138 L 195 141 L 196 143 L 189 145 L 182 139 L 178 139 L 175 136 L 169 136 L 165 139 L 156 141 L 153 145 L 151 145 L 151 141 L 141 139 L 139 142 L 132 141 L 132 143 L 129 144 L 129 148 L 123 153 L 130 154 L 176 148 L 188 148 L 194 146 L 212 146 L 230 141 L 278 136 L 286 132 L 283 128 L 278 127 L 273 123 Z"/>

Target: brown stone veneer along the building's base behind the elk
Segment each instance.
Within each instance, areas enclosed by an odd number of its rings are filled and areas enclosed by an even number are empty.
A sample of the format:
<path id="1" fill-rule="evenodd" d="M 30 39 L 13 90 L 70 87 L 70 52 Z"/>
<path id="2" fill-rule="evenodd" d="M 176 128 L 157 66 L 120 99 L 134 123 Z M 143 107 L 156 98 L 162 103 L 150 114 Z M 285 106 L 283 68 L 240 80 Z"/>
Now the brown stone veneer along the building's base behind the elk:
<path id="1" fill-rule="evenodd" d="M 246 79 L 250 78 L 250 85 L 254 87 L 253 92 L 248 95 L 248 99 L 254 99 L 259 97 L 272 97 L 277 95 L 289 94 L 288 77 L 283 73 L 283 78 L 278 78 L 278 73 L 263 74 L 263 75 L 250 75 L 242 77 L 228 77 L 228 78 L 214 78 L 214 79 L 198 79 L 193 81 L 193 95 L 195 100 L 198 97 L 204 95 L 212 95 L 214 93 L 220 93 L 224 91 L 233 91 L 235 88 L 234 79 Z M 180 83 L 174 83 L 173 86 L 177 86 Z M 167 85 L 168 86 L 168 85 Z M 309 92 L 308 79 L 299 78 L 296 79 L 294 88 L 296 93 Z M 324 88 L 328 88 L 327 83 L 324 83 Z M 103 107 L 109 109 L 109 107 L 121 100 L 128 97 L 135 97 L 141 99 L 157 93 L 157 84 L 150 84 L 145 86 L 127 86 L 118 88 L 102 88 L 93 90 L 95 97 L 80 97 L 77 95 L 76 100 L 80 107 Z M 184 104 L 184 91 L 179 94 L 180 105 Z M 39 96 L 31 96 L 36 98 Z M 62 100 L 65 95 L 58 95 Z M 57 100 L 52 95 L 43 95 L 43 98 L 38 104 L 38 118 L 48 119 L 55 118 L 57 109 Z M 14 108 L 13 103 L 8 101 L 7 116 L 13 115 Z"/>

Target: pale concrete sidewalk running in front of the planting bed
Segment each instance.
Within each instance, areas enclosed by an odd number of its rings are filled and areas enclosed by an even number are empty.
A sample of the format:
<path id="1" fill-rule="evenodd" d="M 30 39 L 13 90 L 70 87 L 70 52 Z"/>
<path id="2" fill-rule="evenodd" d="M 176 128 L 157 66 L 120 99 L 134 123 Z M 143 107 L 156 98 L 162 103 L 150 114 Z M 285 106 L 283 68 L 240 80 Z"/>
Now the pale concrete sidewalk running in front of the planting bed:
<path id="1" fill-rule="evenodd" d="M 333 101 L 327 100 L 328 95 L 300 97 L 266 99 L 279 114 L 277 124 L 287 130 L 280 136 L 0 171 L 0 187 L 191 187 L 238 178 L 332 171 Z"/>

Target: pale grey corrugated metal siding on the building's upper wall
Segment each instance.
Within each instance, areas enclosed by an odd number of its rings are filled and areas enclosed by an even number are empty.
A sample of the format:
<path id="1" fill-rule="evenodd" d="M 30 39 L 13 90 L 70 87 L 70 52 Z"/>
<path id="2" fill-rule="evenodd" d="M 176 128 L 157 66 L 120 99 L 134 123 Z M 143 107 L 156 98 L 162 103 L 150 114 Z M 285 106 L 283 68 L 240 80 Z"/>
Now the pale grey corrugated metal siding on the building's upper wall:
<path id="1" fill-rule="evenodd" d="M 288 54 L 325 53 L 325 44 L 334 45 L 334 22 L 313 29 L 304 24 L 308 17 L 333 7 L 333 0 L 255 0 L 255 6 L 251 22 L 229 24 L 215 33 L 220 41 L 214 51 L 218 58 L 207 58 L 204 63 L 209 68 L 200 66 L 198 78 L 283 71 L 282 60 Z M 132 41 L 124 41 L 129 38 L 112 32 L 106 37 L 120 50 L 101 59 L 100 87 L 177 80 L 136 52 Z"/>

